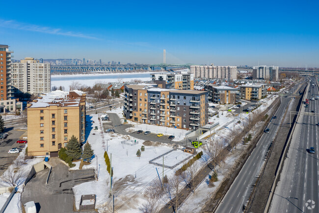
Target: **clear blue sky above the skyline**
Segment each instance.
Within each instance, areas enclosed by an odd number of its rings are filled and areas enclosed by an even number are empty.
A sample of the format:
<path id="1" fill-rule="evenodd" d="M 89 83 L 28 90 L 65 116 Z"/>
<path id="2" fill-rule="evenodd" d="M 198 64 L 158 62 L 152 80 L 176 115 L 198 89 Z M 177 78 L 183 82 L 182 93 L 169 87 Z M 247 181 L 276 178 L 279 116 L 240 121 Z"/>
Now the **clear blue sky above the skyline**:
<path id="1" fill-rule="evenodd" d="M 1 2 L 0 44 L 24 57 L 319 67 L 319 1 Z M 11 9 L 12 8 L 12 9 Z"/>

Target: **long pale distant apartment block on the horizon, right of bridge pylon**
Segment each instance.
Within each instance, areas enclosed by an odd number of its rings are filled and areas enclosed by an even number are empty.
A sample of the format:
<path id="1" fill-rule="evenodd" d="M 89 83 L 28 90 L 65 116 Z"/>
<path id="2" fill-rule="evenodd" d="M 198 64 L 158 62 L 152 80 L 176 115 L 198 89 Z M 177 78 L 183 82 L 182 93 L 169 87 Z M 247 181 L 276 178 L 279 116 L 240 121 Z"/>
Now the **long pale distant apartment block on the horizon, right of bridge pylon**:
<path id="1" fill-rule="evenodd" d="M 190 72 L 194 78 L 220 78 L 220 79 L 237 79 L 237 66 L 190 66 Z"/>

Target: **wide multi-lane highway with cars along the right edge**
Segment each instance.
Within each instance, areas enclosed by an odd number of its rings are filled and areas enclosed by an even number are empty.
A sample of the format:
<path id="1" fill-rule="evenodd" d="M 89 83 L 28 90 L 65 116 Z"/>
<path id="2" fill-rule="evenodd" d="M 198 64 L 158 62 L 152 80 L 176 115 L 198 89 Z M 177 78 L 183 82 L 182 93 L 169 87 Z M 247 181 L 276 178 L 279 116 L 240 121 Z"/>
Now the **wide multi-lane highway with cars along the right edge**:
<path id="1" fill-rule="evenodd" d="M 312 87 L 312 84 L 315 84 Z M 310 92 L 309 92 L 310 91 Z M 312 78 L 306 91 L 306 97 L 319 96 L 317 80 Z M 312 96 L 314 94 L 314 96 Z M 319 100 L 309 100 L 309 108 L 301 112 L 319 113 Z M 300 114 L 287 158 L 280 174 L 272 198 L 270 213 L 318 213 L 319 212 L 319 158 L 318 129 L 319 118 Z M 314 147 L 316 153 L 309 153 Z"/>

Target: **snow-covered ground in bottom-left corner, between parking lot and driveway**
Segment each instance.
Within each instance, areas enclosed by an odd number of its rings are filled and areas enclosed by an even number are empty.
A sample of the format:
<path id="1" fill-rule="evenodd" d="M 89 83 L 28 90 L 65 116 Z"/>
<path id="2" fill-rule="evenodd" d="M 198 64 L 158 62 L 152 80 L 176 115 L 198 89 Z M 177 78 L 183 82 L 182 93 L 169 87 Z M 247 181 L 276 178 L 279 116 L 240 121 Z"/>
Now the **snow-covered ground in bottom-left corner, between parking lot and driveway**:
<path id="1" fill-rule="evenodd" d="M 39 158 L 33 158 L 33 159 L 27 159 L 24 160 L 26 153 L 26 147 L 23 149 L 22 152 L 20 152 L 19 156 L 14 160 L 13 164 L 11 164 L 8 169 L 2 174 L 2 177 L 7 176 L 8 172 L 14 172 L 16 168 L 19 168 L 18 170 L 23 173 L 22 177 L 18 180 L 18 192 L 15 193 L 15 195 L 12 197 L 8 207 L 4 211 L 4 213 L 21 213 L 21 192 L 23 191 L 23 183 L 25 182 L 27 175 L 31 171 L 31 168 L 34 164 L 39 163 L 43 161 L 43 157 Z M 10 185 L 8 183 L 4 183 L 0 180 L 0 187 L 9 187 Z M 9 193 L 4 193 L 0 195 L 0 207 L 3 206 L 5 201 L 7 200 L 9 196 Z"/>

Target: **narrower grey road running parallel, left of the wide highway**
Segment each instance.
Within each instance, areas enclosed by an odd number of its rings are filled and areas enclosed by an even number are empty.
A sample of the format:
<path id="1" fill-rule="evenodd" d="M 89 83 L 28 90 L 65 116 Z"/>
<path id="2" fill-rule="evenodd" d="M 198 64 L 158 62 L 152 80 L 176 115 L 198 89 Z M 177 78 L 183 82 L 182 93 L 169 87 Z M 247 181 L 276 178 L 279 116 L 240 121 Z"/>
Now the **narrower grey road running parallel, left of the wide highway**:
<path id="1" fill-rule="evenodd" d="M 275 116 L 277 119 L 272 119 L 268 125 L 269 133 L 264 133 L 253 150 L 251 155 L 240 170 L 234 183 L 223 197 L 222 201 L 216 209 L 216 213 L 242 213 L 243 206 L 249 199 L 252 185 L 265 163 L 265 155 L 269 148 L 270 143 L 276 136 L 276 132 L 284 117 L 285 111 L 293 98 L 291 94 L 298 89 L 299 85 L 295 85 L 286 96 L 281 98 L 281 105 L 279 106 Z"/>

